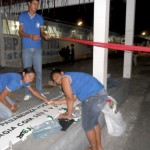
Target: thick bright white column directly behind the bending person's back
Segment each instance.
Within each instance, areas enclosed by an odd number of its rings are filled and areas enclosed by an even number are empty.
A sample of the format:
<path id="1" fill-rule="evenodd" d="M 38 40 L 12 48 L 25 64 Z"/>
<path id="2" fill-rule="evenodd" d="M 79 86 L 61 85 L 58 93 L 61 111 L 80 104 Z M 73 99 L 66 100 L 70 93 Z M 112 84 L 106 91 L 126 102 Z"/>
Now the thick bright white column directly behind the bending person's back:
<path id="1" fill-rule="evenodd" d="M 94 41 L 108 42 L 110 0 L 94 1 Z M 93 76 L 107 88 L 108 49 L 93 47 Z"/>

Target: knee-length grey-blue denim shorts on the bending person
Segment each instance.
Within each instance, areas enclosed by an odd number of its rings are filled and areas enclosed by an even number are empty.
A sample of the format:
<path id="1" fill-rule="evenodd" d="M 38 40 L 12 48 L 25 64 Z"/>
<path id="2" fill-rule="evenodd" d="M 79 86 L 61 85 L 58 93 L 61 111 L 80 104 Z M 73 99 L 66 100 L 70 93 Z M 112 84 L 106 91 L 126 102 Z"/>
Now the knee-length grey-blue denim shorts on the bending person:
<path id="1" fill-rule="evenodd" d="M 98 117 L 106 105 L 107 92 L 102 89 L 82 102 L 82 127 L 87 132 L 99 124 Z"/>

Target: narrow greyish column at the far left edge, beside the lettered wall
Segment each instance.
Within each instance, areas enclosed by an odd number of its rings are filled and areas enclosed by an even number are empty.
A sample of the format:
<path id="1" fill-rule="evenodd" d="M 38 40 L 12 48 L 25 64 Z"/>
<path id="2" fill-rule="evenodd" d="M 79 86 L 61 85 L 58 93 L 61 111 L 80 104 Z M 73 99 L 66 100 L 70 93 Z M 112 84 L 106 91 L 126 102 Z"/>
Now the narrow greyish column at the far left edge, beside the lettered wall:
<path id="1" fill-rule="evenodd" d="M 4 67 L 5 64 L 5 53 L 4 53 L 4 37 L 3 37 L 3 20 L 0 12 L 0 66 Z"/>

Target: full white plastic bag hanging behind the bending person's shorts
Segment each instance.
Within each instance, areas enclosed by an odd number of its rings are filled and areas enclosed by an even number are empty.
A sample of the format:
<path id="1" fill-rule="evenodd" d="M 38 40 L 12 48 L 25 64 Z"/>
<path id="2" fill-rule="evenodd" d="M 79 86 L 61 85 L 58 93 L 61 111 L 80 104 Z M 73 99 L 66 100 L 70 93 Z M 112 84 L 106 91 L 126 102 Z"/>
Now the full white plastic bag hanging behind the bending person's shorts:
<path id="1" fill-rule="evenodd" d="M 102 109 L 104 113 L 108 134 L 113 136 L 120 136 L 126 130 L 126 123 L 123 120 L 122 114 L 117 110 L 117 102 L 114 98 L 109 96 L 109 100 L 113 101 L 110 107 L 107 103 Z"/>

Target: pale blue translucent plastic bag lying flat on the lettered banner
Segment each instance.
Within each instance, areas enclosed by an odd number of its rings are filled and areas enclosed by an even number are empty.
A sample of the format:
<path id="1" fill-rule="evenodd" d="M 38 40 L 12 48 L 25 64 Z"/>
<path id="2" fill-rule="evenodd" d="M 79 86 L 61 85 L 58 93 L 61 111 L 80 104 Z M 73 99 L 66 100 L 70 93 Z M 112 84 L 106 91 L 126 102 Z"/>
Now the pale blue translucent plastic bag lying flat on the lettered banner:
<path id="1" fill-rule="evenodd" d="M 38 126 L 35 126 L 33 129 L 33 136 L 36 138 L 45 138 L 48 135 L 52 135 L 61 130 L 61 125 L 58 122 L 58 119 L 51 121 L 46 121 Z"/>

